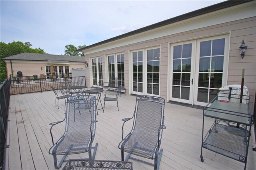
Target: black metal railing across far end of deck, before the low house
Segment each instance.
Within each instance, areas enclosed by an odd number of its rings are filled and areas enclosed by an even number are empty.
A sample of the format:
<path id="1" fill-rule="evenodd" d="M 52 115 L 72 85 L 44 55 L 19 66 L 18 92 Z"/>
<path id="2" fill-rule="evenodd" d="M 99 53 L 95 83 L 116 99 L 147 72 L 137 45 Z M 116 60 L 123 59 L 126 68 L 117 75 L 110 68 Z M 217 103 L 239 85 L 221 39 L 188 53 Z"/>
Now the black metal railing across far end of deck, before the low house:
<path id="1" fill-rule="evenodd" d="M 58 76 L 56 76 L 58 77 Z M 86 86 L 85 76 L 80 77 L 64 77 L 64 78 L 46 78 L 46 77 L 12 77 L 10 94 L 23 94 L 50 91 L 51 86 L 55 89 L 63 89 L 68 86 Z"/>

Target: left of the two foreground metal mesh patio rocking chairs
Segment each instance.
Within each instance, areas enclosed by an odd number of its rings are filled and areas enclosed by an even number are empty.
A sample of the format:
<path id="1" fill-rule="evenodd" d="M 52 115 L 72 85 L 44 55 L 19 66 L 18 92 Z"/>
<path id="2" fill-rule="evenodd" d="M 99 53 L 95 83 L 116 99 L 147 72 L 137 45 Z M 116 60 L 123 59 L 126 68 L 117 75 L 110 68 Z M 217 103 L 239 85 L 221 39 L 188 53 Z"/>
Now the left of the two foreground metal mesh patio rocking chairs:
<path id="1" fill-rule="evenodd" d="M 50 134 L 53 146 L 49 154 L 53 155 L 54 167 L 60 168 L 68 154 L 80 154 L 88 152 L 88 160 L 94 160 L 98 143 L 92 147 L 96 131 L 96 100 L 95 96 L 80 95 L 79 97 L 68 97 L 66 115 L 63 121 L 50 123 Z M 52 135 L 52 128 L 65 123 L 64 134 L 55 143 Z M 92 153 L 92 149 L 94 152 Z M 60 163 L 57 162 L 57 155 L 63 155 Z"/>

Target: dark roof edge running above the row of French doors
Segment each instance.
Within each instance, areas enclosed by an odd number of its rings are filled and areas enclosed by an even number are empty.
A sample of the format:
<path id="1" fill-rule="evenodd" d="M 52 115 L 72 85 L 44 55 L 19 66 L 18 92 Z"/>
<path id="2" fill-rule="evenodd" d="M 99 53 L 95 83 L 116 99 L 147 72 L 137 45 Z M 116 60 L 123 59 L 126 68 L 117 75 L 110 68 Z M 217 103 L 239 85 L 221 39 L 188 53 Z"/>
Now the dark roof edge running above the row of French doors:
<path id="1" fill-rule="evenodd" d="M 246 2 L 250 2 L 250 1 L 252 1 L 252 0 L 227 0 L 227 1 L 224 1 L 224 2 L 220 2 L 218 4 L 214 4 L 214 5 L 205 7 L 205 8 L 201 8 L 199 10 L 188 12 L 186 14 L 182 14 L 180 16 L 176 16 L 174 18 L 170 18 L 168 20 L 161 21 L 161 22 L 158 22 L 156 24 L 152 24 L 150 26 L 146 26 L 146 27 L 140 28 L 138 30 L 134 30 L 134 31 L 122 34 L 120 36 L 116 36 L 114 38 L 104 40 L 102 42 L 98 42 L 98 43 L 94 43 L 92 45 L 88 45 L 84 48 L 78 49 L 77 51 L 83 51 L 85 49 L 96 47 L 96 46 L 102 45 L 104 43 L 113 42 L 115 40 L 119 40 L 119 39 L 122 39 L 122 38 L 133 36 L 135 34 L 146 32 L 148 30 L 153 30 L 155 28 L 166 26 L 168 24 L 172 24 L 172 23 L 175 23 L 175 22 L 179 22 L 179 21 L 182 21 L 182 20 L 186 20 L 186 19 L 189 19 L 189 18 L 200 16 L 202 14 L 207 14 L 207 13 L 210 13 L 210 12 L 214 12 L 214 11 L 217 11 L 217 10 L 221 10 L 221 9 L 224 9 L 224 8 L 228 8 L 228 7 L 231 7 L 231 6 L 238 5 L 238 4 L 243 4 L 243 3 L 246 3 Z"/>

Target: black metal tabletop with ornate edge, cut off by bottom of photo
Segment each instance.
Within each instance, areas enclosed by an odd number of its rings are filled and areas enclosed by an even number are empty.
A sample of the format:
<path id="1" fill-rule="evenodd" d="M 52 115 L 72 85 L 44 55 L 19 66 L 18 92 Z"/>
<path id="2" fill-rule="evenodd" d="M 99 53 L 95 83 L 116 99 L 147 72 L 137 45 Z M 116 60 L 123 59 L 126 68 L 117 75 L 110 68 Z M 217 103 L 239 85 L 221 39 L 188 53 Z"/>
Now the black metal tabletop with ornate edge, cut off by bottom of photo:
<path id="1" fill-rule="evenodd" d="M 132 170 L 132 162 L 114 160 L 70 160 L 62 170 Z"/>

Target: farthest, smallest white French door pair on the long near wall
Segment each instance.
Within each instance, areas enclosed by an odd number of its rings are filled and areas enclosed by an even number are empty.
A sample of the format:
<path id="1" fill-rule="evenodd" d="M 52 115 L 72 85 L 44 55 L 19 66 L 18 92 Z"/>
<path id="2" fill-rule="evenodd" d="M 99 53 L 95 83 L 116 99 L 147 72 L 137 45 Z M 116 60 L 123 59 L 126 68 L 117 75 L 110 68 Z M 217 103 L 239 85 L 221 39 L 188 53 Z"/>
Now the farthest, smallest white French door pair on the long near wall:
<path id="1" fill-rule="evenodd" d="M 92 58 L 92 86 L 103 85 L 102 57 Z"/>

